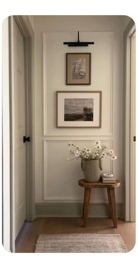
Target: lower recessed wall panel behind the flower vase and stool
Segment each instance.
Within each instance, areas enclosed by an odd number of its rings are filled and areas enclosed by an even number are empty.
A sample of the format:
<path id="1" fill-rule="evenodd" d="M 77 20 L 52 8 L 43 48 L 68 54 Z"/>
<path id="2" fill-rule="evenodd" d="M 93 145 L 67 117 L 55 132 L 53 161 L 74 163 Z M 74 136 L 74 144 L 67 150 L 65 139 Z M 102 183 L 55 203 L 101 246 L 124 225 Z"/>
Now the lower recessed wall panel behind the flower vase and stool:
<path id="1" fill-rule="evenodd" d="M 108 149 L 112 148 L 112 141 L 101 141 Z M 71 158 L 68 151 L 68 141 L 44 141 L 44 197 L 47 201 L 60 200 L 64 202 L 78 202 L 83 200 L 84 189 L 78 186 L 78 180 L 84 179 L 81 170 L 81 160 L 67 162 Z M 84 148 L 94 148 L 94 140 L 74 141 L 74 144 Z M 73 156 L 72 156 L 73 158 Z M 113 165 L 110 158 L 103 161 L 103 171 L 113 173 Z M 93 189 L 92 202 L 105 202 L 107 200 L 106 190 Z"/>

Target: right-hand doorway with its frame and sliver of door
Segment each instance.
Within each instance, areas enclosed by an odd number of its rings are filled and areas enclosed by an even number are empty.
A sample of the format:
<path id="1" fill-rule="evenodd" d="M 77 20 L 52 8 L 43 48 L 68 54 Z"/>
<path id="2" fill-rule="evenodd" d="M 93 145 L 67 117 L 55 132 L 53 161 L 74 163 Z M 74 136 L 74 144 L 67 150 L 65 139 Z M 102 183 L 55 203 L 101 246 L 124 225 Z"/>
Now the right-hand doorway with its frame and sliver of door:
<path id="1" fill-rule="evenodd" d="M 136 221 L 136 26 L 130 22 L 124 33 L 125 48 L 125 214 Z"/>

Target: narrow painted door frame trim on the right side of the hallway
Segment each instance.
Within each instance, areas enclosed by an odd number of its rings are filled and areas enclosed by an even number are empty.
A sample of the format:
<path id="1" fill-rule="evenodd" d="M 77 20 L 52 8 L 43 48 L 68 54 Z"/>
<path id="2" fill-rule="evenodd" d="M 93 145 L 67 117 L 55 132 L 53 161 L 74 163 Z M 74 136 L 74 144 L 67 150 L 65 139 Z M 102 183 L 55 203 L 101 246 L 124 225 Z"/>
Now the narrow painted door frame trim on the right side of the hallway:
<path id="1" fill-rule="evenodd" d="M 130 80 L 131 80 L 131 45 L 130 40 L 135 29 L 134 22 L 130 21 L 124 32 L 124 64 L 125 64 L 125 127 L 124 127 L 124 165 L 125 165 L 125 206 L 124 206 L 124 218 L 126 221 L 130 221 L 130 201 L 133 200 L 130 197 L 130 182 L 132 177 L 130 175 Z"/>

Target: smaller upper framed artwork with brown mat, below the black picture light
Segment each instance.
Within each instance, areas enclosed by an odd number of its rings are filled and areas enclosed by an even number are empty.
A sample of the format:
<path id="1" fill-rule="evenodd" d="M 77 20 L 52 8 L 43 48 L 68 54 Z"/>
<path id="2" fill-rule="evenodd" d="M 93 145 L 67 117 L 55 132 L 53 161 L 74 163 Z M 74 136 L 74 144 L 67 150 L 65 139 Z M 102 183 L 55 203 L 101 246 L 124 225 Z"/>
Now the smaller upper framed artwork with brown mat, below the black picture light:
<path id="1" fill-rule="evenodd" d="M 66 84 L 91 84 L 91 53 L 66 53 Z"/>

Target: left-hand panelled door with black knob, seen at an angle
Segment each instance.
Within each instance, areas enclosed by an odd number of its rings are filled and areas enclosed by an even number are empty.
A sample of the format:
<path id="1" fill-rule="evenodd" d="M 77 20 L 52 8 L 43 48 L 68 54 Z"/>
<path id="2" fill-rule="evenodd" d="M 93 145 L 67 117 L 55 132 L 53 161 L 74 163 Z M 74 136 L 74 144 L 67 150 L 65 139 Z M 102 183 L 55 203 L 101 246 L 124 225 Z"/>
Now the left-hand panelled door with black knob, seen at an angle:
<path id="1" fill-rule="evenodd" d="M 26 219 L 26 143 L 25 136 L 25 60 L 24 41 L 15 20 L 13 19 L 12 66 L 13 66 L 13 171 L 15 180 L 15 238 Z M 15 188 L 14 188 L 15 187 Z"/>

